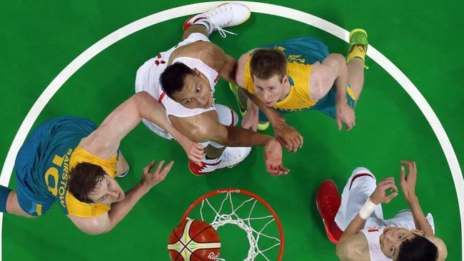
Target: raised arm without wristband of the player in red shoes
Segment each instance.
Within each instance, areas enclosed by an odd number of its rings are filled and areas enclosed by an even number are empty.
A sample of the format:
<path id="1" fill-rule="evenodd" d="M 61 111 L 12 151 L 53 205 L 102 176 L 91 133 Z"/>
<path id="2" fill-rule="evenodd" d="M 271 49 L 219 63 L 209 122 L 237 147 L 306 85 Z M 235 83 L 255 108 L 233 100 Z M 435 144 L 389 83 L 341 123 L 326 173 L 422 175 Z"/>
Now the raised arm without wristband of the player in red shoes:
<path id="1" fill-rule="evenodd" d="M 438 247 L 438 260 L 445 260 L 448 255 L 448 250 L 443 240 L 435 237 L 432 227 L 428 224 L 427 218 L 420 208 L 420 203 L 417 195 L 415 195 L 415 184 L 417 182 L 417 168 L 415 161 L 401 160 L 400 169 L 400 187 L 405 196 L 406 202 L 413 213 L 415 228 L 422 230 L 425 237 L 428 238 Z M 405 175 L 404 165 L 408 167 L 408 175 Z"/>

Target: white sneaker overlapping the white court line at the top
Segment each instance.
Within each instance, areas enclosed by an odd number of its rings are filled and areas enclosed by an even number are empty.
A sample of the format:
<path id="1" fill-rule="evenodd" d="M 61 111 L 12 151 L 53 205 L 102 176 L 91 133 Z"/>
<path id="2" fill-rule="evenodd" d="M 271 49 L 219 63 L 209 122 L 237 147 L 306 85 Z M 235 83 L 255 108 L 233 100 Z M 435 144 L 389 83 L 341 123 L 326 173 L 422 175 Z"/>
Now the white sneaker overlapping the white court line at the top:
<path id="1" fill-rule="evenodd" d="M 220 6 L 206 11 L 196 16 L 192 16 L 187 19 L 183 24 L 183 31 L 186 31 L 188 27 L 194 24 L 201 24 L 206 26 L 208 34 L 213 31 L 218 31 L 222 37 L 226 37 L 226 33 L 234 34 L 230 31 L 226 31 L 223 28 L 238 26 L 243 24 L 251 16 L 251 11 L 248 6 L 238 3 L 221 4 Z"/>

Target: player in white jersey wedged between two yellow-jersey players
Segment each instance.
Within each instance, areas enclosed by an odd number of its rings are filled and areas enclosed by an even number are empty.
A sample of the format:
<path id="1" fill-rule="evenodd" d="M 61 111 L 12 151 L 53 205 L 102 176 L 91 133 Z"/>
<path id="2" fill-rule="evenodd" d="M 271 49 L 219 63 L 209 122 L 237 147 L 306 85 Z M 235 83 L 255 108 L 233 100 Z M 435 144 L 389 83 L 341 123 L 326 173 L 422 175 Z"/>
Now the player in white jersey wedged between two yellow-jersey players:
<path id="1" fill-rule="evenodd" d="M 173 126 L 191 140 L 205 146 L 201 163 L 191 160 L 191 172 L 204 175 L 231 168 L 250 153 L 251 146 L 265 146 L 266 170 L 273 175 L 288 173 L 282 165 L 278 141 L 243 128 L 234 127 L 238 116 L 230 108 L 214 104 L 214 86 L 221 77 L 235 83 L 237 62 L 209 41 L 213 31 L 225 36 L 224 27 L 242 24 L 251 12 L 243 4 L 221 6 L 191 17 L 183 25 L 183 41 L 158 53 L 137 71 L 136 92 L 147 91 L 164 108 Z M 143 120 L 154 133 L 172 139 L 154 123 Z M 228 147 L 226 147 L 228 146 Z"/>

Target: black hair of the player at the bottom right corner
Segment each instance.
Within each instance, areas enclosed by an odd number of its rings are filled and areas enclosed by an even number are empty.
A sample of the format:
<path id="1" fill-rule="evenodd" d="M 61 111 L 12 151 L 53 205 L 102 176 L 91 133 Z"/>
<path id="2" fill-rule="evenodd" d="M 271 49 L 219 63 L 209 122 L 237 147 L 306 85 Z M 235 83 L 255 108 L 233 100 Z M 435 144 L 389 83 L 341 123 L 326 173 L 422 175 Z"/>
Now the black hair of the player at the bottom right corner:
<path id="1" fill-rule="evenodd" d="M 426 237 L 416 235 L 400 245 L 397 261 L 435 261 L 438 247 Z"/>

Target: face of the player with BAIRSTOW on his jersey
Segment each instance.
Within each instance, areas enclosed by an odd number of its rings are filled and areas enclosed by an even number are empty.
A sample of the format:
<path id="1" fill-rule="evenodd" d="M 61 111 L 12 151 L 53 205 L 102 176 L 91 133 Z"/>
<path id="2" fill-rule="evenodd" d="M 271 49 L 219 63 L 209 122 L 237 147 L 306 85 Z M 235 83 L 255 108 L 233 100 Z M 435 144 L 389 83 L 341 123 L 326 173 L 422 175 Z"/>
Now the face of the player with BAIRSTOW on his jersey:
<path id="1" fill-rule="evenodd" d="M 109 175 L 104 175 L 103 180 L 96 185 L 89 199 L 94 203 L 111 204 L 123 200 L 125 196 L 118 182 Z"/>

